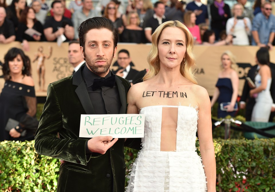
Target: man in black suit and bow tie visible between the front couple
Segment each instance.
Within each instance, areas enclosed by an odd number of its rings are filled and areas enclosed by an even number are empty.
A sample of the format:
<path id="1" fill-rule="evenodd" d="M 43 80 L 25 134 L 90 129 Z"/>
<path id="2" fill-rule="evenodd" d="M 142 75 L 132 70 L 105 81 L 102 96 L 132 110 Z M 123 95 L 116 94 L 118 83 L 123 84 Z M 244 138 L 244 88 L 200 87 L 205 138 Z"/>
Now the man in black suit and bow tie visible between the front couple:
<path id="1" fill-rule="evenodd" d="M 117 56 L 117 64 L 119 65 L 119 68 L 114 71 L 114 73 L 122 78 L 125 78 L 130 83 L 133 82 L 133 78 L 139 71 L 131 68 L 131 57 L 129 52 L 126 49 L 121 49 Z"/>

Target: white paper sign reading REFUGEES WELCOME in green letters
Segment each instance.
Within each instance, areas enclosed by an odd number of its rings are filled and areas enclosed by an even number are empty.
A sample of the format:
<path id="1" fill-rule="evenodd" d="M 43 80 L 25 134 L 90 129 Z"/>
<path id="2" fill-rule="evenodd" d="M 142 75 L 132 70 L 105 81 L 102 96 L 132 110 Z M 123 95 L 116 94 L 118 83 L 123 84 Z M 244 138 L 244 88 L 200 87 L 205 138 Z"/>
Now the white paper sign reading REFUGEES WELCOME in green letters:
<path id="1" fill-rule="evenodd" d="M 81 115 L 79 137 L 143 138 L 144 114 Z"/>

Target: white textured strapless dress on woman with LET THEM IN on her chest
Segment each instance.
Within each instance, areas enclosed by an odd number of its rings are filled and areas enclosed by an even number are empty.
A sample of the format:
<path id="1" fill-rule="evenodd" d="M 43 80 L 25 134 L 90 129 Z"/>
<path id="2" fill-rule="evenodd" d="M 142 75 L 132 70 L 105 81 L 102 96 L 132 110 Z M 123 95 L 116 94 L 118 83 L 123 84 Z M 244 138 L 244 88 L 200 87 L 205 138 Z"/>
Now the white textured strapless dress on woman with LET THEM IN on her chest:
<path id="1" fill-rule="evenodd" d="M 175 151 L 160 151 L 163 108 L 178 108 Z M 188 106 L 148 106 L 140 114 L 145 114 L 142 150 L 133 163 L 126 191 L 207 191 L 205 172 L 195 146 L 198 111 Z"/>

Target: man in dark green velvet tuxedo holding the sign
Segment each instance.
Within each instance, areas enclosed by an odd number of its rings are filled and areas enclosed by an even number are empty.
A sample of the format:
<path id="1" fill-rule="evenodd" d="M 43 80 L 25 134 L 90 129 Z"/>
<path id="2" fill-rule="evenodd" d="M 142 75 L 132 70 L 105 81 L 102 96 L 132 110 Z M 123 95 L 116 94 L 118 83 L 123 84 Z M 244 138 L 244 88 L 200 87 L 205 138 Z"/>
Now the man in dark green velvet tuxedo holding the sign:
<path id="1" fill-rule="evenodd" d="M 98 136 L 79 138 L 80 114 L 125 114 L 127 80 L 115 76 L 110 65 L 117 50 L 117 29 L 109 19 L 93 17 L 78 28 L 80 50 L 86 65 L 51 83 L 35 149 L 39 154 L 63 159 L 57 191 L 123 192 L 124 145 L 134 140 Z M 59 137 L 56 135 L 59 133 Z M 139 140 L 140 141 L 140 140 Z M 136 142 L 140 148 L 140 142 Z M 138 144 L 139 143 L 139 144 Z"/>

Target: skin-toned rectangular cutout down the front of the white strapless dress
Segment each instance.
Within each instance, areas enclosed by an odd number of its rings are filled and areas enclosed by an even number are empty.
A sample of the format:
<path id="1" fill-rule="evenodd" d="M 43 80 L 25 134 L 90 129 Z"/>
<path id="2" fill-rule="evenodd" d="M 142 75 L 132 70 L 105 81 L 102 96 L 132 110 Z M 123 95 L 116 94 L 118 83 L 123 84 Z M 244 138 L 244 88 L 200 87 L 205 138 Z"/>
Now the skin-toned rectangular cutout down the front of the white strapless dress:
<path id="1" fill-rule="evenodd" d="M 178 108 L 163 107 L 160 136 L 160 151 L 176 151 L 177 126 Z"/>

